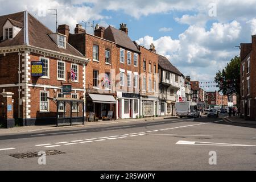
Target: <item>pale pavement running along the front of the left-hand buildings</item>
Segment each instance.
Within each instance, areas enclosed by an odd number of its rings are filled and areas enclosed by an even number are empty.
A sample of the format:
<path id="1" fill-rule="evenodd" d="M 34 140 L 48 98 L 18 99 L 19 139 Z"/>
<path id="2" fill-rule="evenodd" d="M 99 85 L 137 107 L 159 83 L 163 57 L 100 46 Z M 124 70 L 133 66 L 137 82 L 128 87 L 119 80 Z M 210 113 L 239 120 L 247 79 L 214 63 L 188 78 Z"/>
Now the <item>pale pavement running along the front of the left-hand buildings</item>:
<path id="1" fill-rule="evenodd" d="M 74 127 L 87 127 L 87 126 L 96 126 L 96 125 L 108 125 L 114 123 L 126 123 L 126 122 L 136 122 L 136 121 L 155 121 L 159 119 L 165 118 L 177 118 L 177 117 L 148 117 L 148 118 L 138 118 L 138 119 L 117 119 L 112 121 L 98 121 L 98 122 L 84 122 L 84 125 L 65 125 L 56 127 L 56 125 L 41 125 L 41 126 L 16 126 L 10 129 L 5 129 L 0 127 L 0 135 L 1 134 L 15 134 L 15 133 L 26 133 L 26 132 L 34 132 L 34 131 L 47 131 L 47 130 L 63 130 Z"/>

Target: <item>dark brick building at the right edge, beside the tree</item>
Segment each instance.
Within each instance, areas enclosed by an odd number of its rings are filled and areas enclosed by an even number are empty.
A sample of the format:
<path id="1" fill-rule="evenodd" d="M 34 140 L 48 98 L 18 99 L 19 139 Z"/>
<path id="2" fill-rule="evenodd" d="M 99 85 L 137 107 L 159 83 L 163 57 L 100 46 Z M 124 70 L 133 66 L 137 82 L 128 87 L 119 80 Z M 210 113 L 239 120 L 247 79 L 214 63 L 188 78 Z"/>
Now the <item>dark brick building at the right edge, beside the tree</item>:
<path id="1" fill-rule="evenodd" d="M 240 109 L 242 117 L 256 119 L 256 35 L 251 36 L 251 43 L 241 43 L 241 91 Z"/>

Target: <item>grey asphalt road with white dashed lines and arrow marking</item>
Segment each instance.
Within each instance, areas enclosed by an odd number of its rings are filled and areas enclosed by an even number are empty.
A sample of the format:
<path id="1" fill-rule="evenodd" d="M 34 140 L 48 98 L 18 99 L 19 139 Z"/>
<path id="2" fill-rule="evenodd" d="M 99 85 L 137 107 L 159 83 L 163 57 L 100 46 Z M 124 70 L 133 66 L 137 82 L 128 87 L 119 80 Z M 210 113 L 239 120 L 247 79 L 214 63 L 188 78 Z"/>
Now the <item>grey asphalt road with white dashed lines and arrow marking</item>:
<path id="1" fill-rule="evenodd" d="M 1 135 L 0 170 L 256 170 L 255 127 L 202 117 Z M 49 150 L 64 154 L 10 156 Z"/>

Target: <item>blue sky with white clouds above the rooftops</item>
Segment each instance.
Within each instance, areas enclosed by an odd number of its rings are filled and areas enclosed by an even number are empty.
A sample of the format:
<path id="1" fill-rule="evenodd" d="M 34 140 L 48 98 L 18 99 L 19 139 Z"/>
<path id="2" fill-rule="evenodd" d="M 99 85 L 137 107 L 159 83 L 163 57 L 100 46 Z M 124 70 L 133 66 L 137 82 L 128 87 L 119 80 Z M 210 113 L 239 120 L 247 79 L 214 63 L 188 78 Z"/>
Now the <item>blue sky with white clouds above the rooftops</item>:
<path id="1" fill-rule="evenodd" d="M 92 22 L 119 28 L 127 24 L 138 44 L 166 56 L 183 75 L 200 82 L 214 81 L 218 70 L 240 54 L 240 43 L 256 34 L 256 0 L 0 0 L 0 15 L 28 10 L 52 31 L 58 24 L 77 23 L 92 32 Z M 210 84 L 212 85 L 212 84 Z M 217 88 L 205 88 L 213 91 Z"/>

